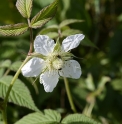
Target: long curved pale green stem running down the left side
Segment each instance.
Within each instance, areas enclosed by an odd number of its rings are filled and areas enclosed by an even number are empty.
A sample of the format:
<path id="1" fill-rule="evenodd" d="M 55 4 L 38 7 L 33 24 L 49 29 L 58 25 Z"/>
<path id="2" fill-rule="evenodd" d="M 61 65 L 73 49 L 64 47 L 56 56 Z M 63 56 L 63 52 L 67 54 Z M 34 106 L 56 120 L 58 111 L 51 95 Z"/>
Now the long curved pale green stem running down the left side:
<path id="1" fill-rule="evenodd" d="M 8 97 L 9 97 L 9 94 L 10 94 L 10 91 L 16 81 L 16 79 L 18 78 L 20 72 L 21 72 L 21 68 L 27 63 L 27 61 L 31 58 L 31 56 L 27 56 L 25 61 L 22 63 L 22 65 L 20 66 L 20 68 L 18 69 L 18 71 L 16 72 L 16 74 L 14 75 L 11 83 L 10 83 L 10 86 L 8 87 L 8 91 L 7 91 L 7 94 L 6 94 L 6 97 L 4 99 L 4 110 L 2 111 L 2 115 L 3 115 L 3 121 L 4 121 L 4 124 L 7 124 L 7 114 L 6 114 L 6 109 L 7 109 L 7 101 L 8 101 Z"/>

